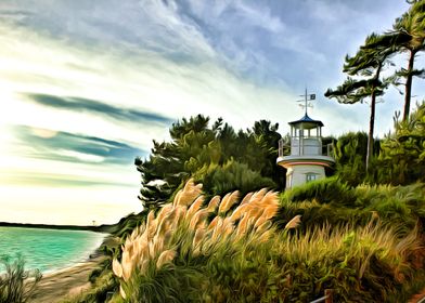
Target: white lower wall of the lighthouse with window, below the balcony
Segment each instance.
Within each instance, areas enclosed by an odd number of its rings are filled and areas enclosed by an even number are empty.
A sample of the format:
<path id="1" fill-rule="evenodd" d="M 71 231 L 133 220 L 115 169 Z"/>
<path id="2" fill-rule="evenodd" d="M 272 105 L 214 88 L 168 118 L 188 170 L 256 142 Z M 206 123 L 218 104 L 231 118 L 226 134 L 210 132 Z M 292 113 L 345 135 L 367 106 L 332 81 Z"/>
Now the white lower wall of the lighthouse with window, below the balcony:
<path id="1" fill-rule="evenodd" d="M 325 177 L 324 167 L 319 166 L 293 166 L 286 171 L 286 188 L 292 188 L 307 183 L 308 181 Z"/>

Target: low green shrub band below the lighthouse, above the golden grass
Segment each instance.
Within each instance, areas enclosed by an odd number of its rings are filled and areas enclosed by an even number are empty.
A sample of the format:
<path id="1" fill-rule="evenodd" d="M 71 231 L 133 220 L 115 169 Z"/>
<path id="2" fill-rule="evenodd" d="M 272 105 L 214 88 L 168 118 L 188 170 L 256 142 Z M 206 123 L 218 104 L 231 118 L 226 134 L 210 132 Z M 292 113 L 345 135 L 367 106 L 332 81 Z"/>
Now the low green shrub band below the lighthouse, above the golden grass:
<path id="1" fill-rule="evenodd" d="M 378 219 L 407 234 L 417 222 L 425 223 L 425 185 L 351 187 L 335 179 L 320 180 L 282 194 L 279 213 L 280 225 L 301 215 L 304 229 L 324 223 L 364 226 Z"/>

